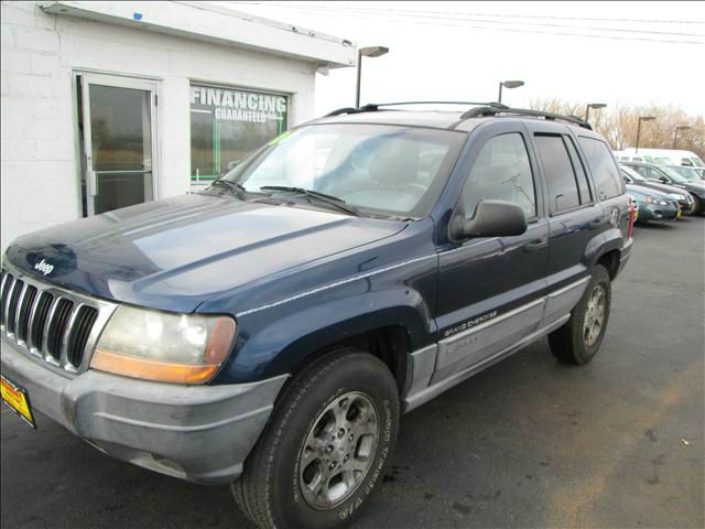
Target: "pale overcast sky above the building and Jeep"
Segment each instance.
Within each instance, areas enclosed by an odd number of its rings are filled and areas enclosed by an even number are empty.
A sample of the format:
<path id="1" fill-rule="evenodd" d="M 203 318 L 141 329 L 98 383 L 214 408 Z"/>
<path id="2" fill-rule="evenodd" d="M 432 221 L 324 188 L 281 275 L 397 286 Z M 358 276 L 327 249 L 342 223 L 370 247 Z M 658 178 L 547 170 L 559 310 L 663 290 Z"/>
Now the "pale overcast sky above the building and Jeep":
<path id="1" fill-rule="evenodd" d="M 390 53 L 362 104 L 502 99 L 675 105 L 705 114 L 705 2 L 228 2 Z M 596 35 L 596 36 L 585 36 Z M 316 75 L 316 115 L 355 102 L 355 68 Z"/>

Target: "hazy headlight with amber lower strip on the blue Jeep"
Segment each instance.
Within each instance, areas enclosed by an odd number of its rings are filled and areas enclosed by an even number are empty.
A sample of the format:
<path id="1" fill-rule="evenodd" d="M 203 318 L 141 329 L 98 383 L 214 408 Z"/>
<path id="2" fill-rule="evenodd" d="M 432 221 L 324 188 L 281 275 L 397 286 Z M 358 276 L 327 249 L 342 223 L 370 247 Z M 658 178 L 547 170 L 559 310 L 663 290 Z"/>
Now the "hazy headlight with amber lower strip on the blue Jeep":
<path id="1" fill-rule="evenodd" d="M 90 367 L 162 382 L 203 384 L 216 374 L 234 338 L 231 317 L 121 305 L 100 335 Z"/>

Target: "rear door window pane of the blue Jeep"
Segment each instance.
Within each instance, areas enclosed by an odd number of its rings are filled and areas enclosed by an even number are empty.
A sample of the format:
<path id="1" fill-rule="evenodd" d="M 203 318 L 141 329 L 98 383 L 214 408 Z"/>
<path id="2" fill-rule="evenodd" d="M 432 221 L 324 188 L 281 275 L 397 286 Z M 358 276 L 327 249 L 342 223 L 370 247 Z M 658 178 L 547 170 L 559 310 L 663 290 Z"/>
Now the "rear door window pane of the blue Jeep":
<path id="1" fill-rule="evenodd" d="M 560 136 L 535 136 L 539 156 L 549 186 L 551 212 L 571 209 L 581 205 L 575 171 L 563 138 Z"/>

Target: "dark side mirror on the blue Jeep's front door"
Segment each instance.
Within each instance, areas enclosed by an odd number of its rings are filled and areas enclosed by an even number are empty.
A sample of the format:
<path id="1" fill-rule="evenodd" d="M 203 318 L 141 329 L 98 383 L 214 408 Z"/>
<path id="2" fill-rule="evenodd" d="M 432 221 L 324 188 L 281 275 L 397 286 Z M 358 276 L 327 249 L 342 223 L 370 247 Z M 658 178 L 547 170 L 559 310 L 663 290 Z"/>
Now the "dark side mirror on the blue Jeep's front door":
<path id="1" fill-rule="evenodd" d="M 451 236 L 455 240 L 469 237 L 508 237 L 524 231 L 524 210 L 506 201 L 481 201 L 475 208 L 473 218 L 456 215 L 451 223 Z"/>

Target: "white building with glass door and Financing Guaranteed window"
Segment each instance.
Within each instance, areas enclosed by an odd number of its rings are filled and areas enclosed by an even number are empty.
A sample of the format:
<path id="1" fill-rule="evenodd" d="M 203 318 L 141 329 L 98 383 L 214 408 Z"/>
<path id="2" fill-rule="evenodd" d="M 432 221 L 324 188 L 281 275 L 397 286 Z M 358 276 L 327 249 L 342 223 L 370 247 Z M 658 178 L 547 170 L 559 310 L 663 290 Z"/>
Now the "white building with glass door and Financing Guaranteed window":
<path id="1" fill-rule="evenodd" d="M 169 195 L 313 117 L 348 41 L 205 2 L 2 2 L 2 233 Z"/>

